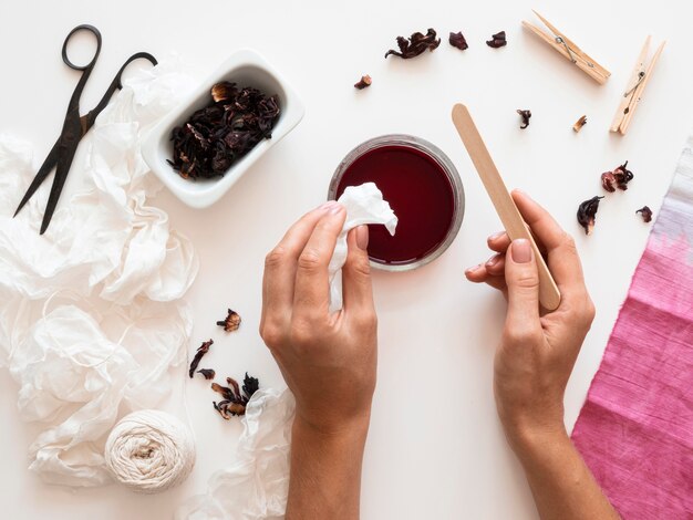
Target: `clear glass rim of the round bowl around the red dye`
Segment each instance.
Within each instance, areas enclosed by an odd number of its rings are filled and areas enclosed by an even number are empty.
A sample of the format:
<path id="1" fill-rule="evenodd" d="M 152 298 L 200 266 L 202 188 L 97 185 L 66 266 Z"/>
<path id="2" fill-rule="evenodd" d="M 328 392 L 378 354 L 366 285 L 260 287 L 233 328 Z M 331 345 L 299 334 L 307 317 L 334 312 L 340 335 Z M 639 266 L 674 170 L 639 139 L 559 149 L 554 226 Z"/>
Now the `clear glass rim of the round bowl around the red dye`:
<path id="1" fill-rule="evenodd" d="M 337 189 L 340 181 L 342 180 L 344 173 L 346 171 L 349 166 L 351 166 L 359 157 L 372 149 L 392 145 L 411 147 L 428 155 L 441 166 L 441 169 L 445 173 L 445 175 L 447 175 L 447 178 L 453 186 L 453 223 L 447 230 L 445 239 L 441 243 L 438 243 L 435 249 L 431 250 L 423 258 L 406 263 L 383 263 L 374 260 L 369 256 L 370 264 L 373 269 L 391 272 L 402 272 L 411 271 L 426 266 L 427 263 L 431 263 L 449 248 L 449 246 L 457 237 L 459 228 L 462 227 L 462 221 L 464 220 L 465 191 L 457 168 L 449 159 L 449 157 L 436 145 L 422 137 L 416 137 L 410 134 L 384 134 L 364 141 L 363 143 L 354 146 L 344 156 L 344 158 L 340 162 L 337 169 L 334 170 L 332 179 L 330 180 L 330 186 L 328 188 L 328 200 L 334 200 L 337 198 Z"/>

